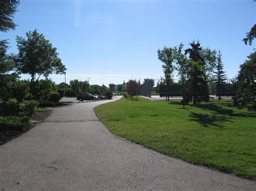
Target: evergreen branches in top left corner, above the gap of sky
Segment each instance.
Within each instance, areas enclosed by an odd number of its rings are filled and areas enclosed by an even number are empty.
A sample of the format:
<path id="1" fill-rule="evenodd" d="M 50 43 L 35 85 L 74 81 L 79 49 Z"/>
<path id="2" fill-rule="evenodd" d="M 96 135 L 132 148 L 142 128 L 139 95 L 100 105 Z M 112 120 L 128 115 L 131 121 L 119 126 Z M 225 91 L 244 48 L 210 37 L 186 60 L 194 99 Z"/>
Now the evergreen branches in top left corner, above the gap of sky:
<path id="1" fill-rule="evenodd" d="M 14 14 L 17 11 L 18 0 L 1 0 L 0 1 L 0 31 L 7 32 L 10 29 L 15 30 L 17 26 L 14 21 Z"/>

